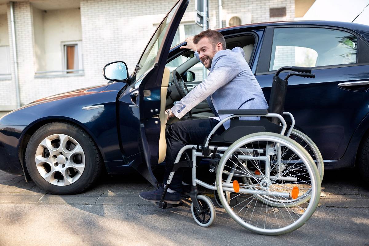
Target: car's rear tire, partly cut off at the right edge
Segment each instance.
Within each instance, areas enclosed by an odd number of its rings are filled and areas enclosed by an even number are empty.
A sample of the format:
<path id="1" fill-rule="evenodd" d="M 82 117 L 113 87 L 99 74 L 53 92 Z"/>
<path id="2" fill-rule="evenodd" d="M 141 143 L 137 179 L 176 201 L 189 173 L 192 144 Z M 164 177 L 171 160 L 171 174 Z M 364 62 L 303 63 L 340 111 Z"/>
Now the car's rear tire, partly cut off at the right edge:
<path id="1" fill-rule="evenodd" d="M 369 187 L 369 134 L 366 134 L 361 142 L 356 164 L 363 184 Z"/>

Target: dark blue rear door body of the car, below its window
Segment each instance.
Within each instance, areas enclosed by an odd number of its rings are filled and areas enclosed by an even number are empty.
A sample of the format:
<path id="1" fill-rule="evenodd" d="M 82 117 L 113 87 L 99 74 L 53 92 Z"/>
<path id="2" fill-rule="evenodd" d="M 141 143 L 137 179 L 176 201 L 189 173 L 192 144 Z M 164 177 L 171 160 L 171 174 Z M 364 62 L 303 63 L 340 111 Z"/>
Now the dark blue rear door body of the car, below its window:
<path id="1" fill-rule="evenodd" d="M 315 69 L 315 79 L 289 79 L 284 110 L 293 114 L 296 128 L 317 144 L 323 159 L 342 157 L 356 126 L 369 112 L 368 91 L 338 87 L 340 83 L 368 80 L 369 72 L 365 71 L 369 71 L 368 65 Z M 257 75 L 256 79 L 268 100 L 273 74 Z"/>

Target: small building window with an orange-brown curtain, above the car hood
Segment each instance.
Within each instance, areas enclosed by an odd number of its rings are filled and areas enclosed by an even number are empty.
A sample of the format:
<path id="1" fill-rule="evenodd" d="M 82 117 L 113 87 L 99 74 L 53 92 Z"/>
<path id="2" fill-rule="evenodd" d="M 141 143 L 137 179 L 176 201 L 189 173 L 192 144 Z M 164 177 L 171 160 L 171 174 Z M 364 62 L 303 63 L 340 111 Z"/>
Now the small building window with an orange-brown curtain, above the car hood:
<path id="1" fill-rule="evenodd" d="M 82 52 L 80 42 L 62 42 L 63 70 L 66 73 L 79 73 L 82 71 Z"/>

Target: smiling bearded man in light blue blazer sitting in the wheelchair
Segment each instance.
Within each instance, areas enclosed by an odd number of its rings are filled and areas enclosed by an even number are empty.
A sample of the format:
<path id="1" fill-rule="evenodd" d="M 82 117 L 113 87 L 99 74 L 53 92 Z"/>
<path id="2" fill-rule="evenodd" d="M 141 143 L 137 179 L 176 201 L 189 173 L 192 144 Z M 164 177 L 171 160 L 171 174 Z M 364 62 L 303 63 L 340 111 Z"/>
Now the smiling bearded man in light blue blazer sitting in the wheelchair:
<path id="1" fill-rule="evenodd" d="M 193 50 L 196 58 L 210 70 L 210 73 L 179 103 L 167 110 L 168 119 L 183 117 L 205 99 L 216 117 L 178 121 L 168 127 L 164 185 L 179 150 L 187 144 L 202 144 L 219 120 L 228 116 L 218 115 L 218 110 L 268 108 L 261 87 L 252 74 L 244 58 L 245 53 L 240 47 L 226 49 L 223 35 L 210 29 L 186 38 L 186 42 L 187 45 L 180 48 Z M 245 117 L 245 119 L 258 119 L 258 117 Z M 230 122 L 225 122 L 224 127 L 219 128 L 216 133 L 223 132 L 229 126 Z M 183 171 L 177 170 L 164 198 L 167 203 L 178 204 L 180 192 L 190 191 L 192 182 L 184 183 L 182 177 Z M 186 178 L 190 179 L 188 176 Z M 155 191 L 142 192 L 140 197 L 146 201 L 157 202 L 161 200 L 163 191 L 164 187 L 161 186 Z"/>

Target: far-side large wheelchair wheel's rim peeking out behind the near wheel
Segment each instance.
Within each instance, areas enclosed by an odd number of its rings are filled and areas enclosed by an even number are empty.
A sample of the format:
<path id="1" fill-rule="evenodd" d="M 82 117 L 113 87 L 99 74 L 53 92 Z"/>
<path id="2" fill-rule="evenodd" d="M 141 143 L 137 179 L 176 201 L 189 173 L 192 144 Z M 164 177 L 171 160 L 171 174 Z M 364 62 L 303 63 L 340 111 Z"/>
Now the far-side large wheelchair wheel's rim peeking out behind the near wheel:
<path id="1" fill-rule="evenodd" d="M 322 181 L 324 176 L 324 162 L 317 145 L 306 134 L 294 128 L 292 129 L 290 138 L 303 146 L 304 149 L 306 149 L 307 153 L 309 153 L 311 158 L 313 158 L 318 168 L 320 181 Z"/>

